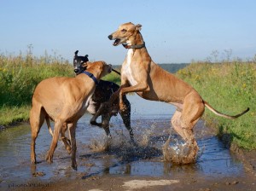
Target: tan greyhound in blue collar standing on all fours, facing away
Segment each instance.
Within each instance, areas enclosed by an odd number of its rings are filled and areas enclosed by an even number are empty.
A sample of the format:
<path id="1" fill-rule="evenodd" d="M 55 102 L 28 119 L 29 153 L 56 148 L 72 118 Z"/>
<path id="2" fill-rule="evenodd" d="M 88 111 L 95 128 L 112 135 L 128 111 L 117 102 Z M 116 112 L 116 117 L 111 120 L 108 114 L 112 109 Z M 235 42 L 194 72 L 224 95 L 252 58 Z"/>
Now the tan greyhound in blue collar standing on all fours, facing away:
<path id="1" fill-rule="evenodd" d="M 89 63 L 87 70 L 75 78 L 47 78 L 38 84 L 32 96 L 30 111 L 32 164 L 36 163 L 35 142 L 39 130 L 44 124 L 44 119 L 46 121 L 52 119 L 55 122 L 55 130 L 46 160 L 52 163 L 58 137 L 60 133 L 63 136 L 67 128 L 71 137 L 72 167 L 77 169 L 75 139 L 77 121 L 86 111 L 98 80 L 111 70 L 111 65 L 107 65 L 104 61 L 96 61 Z"/>

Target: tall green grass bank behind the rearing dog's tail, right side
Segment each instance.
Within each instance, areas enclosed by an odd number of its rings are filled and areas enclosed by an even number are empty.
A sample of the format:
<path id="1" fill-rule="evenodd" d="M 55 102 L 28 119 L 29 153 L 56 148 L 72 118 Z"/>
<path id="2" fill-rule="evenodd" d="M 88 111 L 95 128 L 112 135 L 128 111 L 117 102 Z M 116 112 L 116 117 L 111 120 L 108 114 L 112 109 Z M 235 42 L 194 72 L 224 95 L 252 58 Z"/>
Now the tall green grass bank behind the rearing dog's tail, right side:
<path id="1" fill-rule="evenodd" d="M 249 113 L 231 120 L 217 117 L 206 109 L 204 119 L 215 126 L 221 137 L 240 148 L 256 148 L 256 64 L 229 61 L 218 64 L 192 63 L 177 72 L 218 111 L 236 114 L 250 107 Z M 233 144 L 234 145 L 234 144 Z"/>

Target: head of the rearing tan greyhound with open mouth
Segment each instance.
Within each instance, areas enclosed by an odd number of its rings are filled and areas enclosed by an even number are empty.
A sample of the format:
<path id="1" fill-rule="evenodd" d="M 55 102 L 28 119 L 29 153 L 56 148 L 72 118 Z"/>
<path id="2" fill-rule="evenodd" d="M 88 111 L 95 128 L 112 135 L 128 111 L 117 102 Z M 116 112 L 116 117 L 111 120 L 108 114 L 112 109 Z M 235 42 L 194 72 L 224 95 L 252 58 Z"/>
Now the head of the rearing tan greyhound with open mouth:
<path id="1" fill-rule="evenodd" d="M 113 46 L 118 46 L 120 43 L 132 43 L 137 33 L 141 30 L 142 25 L 134 25 L 131 22 L 127 22 L 119 26 L 116 32 L 113 32 L 108 36 L 110 40 L 114 40 Z"/>

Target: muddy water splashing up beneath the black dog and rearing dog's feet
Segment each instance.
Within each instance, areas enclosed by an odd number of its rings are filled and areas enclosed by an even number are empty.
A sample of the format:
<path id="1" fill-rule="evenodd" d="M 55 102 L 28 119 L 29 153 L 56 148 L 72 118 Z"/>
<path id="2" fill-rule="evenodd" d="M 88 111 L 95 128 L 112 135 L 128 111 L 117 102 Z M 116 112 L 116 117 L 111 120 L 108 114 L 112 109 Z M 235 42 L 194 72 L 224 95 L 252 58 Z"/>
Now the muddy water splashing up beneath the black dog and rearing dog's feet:
<path id="1" fill-rule="evenodd" d="M 137 131 L 136 128 L 134 130 Z M 164 161 L 178 165 L 195 163 L 203 152 L 203 149 L 199 150 L 196 142 L 189 144 L 177 141 L 171 136 L 168 139 L 168 136 L 160 136 L 162 132 L 155 124 L 138 130 L 140 132 L 135 132 L 135 144 L 131 142 L 130 136 L 125 134 L 126 131 L 113 130 L 112 138 L 104 136 L 92 139 L 90 149 L 93 152 L 108 151 L 123 160 L 151 159 L 152 156 L 163 155 Z"/>

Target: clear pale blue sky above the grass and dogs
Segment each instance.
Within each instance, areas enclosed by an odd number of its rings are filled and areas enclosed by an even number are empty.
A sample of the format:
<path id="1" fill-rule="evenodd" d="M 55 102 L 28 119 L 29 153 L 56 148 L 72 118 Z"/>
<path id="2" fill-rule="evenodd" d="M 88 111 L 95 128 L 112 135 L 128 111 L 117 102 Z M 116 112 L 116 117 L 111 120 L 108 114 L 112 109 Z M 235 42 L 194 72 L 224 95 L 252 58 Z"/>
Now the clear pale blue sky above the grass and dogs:
<path id="1" fill-rule="evenodd" d="M 156 63 L 203 61 L 218 50 L 231 57 L 256 54 L 256 1 L 179 0 L 1 0 L 0 53 L 89 55 L 90 61 L 121 64 L 126 49 L 108 35 L 125 22 L 143 25 L 142 34 Z"/>

